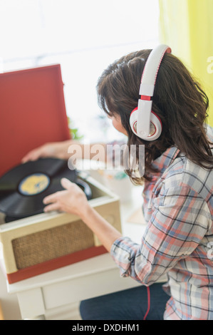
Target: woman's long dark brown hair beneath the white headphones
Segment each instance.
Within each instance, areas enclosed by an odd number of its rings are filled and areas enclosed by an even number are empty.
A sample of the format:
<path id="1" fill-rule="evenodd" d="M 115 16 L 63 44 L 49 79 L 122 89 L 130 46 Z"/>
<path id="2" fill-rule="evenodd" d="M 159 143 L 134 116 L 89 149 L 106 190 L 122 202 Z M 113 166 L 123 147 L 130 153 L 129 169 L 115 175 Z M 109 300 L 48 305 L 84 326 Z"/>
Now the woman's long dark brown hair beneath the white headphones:
<path id="1" fill-rule="evenodd" d="M 137 107 L 142 71 L 151 50 L 129 53 L 103 71 L 97 85 L 98 103 L 109 115 L 120 115 L 123 128 L 128 133 L 128 145 L 145 145 L 145 174 L 133 177 L 136 184 L 151 180 L 152 161 L 167 148 L 176 146 L 195 164 L 202 168 L 213 167 L 213 156 L 207 139 L 205 122 L 209 100 L 201 86 L 185 65 L 175 56 L 166 53 L 162 59 L 152 110 L 162 120 L 162 134 L 155 141 L 138 138 L 130 128 L 130 113 Z"/>

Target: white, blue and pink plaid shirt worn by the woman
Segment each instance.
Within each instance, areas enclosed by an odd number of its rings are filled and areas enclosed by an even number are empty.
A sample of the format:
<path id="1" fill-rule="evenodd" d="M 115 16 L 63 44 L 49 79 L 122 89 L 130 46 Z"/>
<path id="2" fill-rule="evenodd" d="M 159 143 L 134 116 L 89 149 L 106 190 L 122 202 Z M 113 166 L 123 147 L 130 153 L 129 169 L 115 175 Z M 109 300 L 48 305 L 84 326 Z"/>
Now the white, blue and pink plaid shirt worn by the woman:
<path id="1" fill-rule="evenodd" d="M 122 277 L 146 286 L 167 274 L 165 320 L 212 320 L 213 170 L 195 165 L 175 147 L 153 165 L 160 172 L 145 182 L 141 244 L 121 237 L 111 255 Z"/>

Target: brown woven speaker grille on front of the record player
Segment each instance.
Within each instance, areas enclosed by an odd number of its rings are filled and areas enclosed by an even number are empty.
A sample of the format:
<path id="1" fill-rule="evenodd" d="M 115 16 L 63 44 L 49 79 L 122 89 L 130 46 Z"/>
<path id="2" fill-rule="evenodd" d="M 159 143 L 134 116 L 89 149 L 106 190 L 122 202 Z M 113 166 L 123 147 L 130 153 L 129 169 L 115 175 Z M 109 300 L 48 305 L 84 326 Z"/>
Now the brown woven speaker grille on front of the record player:
<path id="1" fill-rule="evenodd" d="M 12 241 L 17 269 L 94 246 L 93 232 L 81 220 Z"/>

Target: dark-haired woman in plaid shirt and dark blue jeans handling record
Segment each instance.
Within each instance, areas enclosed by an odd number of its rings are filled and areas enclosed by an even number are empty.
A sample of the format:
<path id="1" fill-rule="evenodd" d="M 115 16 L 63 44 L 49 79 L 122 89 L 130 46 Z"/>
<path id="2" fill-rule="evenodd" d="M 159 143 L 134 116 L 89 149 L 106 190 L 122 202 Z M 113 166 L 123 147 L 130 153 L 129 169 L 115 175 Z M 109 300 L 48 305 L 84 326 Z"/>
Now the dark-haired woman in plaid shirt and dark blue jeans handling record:
<path id="1" fill-rule="evenodd" d="M 147 304 L 147 319 L 213 319 L 212 129 L 205 125 L 209 102 L 182 62 L 165 53 L 152 97 L 152 111 L 162 124 L 160 136 L 142 140 L 135 135 L 130 114 L 137 107 L 149 55 L 150 50 L 142 50 L 123 56 L 98 81 L 100 106 L 128 136 L 129 148 L 145 145 L 145 174 L 126 171 L 133 182 L 144 184 L 147 229 L 141 244 L 109 225 L 68 180 L 61 181 L 64 191 L 43 200 L 46 212 L 78 215 L 108 249 L 121 276 L 142 283 L 82 301 L 83 319 L 143 319 Z M 162 289 L 156 282 L 163 274 L 168 281 Z"/>

